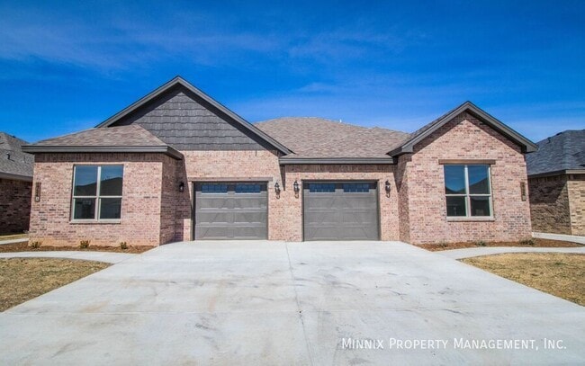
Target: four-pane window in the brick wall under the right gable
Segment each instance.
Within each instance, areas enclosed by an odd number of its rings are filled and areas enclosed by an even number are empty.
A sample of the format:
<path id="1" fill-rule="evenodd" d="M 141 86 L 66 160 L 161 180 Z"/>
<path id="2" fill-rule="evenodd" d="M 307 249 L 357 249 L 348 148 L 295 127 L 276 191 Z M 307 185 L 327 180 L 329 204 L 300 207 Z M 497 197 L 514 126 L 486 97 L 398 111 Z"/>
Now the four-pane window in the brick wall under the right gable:
<path id="1" fill-rule="evenodd" d="M 491 217 L 490 165 L 445 165 L 448 217 Z"/>

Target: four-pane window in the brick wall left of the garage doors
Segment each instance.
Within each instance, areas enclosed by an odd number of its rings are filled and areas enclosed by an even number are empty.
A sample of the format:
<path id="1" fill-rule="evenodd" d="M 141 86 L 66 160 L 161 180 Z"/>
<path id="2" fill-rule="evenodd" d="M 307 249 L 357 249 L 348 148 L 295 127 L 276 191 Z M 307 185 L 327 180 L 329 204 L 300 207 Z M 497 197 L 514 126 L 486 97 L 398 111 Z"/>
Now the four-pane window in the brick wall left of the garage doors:
<path id="1" fill-rule="evenodd" d="M 122 165 L 75 165 L 72 219 L 120 219 L 122 175 Z"/>

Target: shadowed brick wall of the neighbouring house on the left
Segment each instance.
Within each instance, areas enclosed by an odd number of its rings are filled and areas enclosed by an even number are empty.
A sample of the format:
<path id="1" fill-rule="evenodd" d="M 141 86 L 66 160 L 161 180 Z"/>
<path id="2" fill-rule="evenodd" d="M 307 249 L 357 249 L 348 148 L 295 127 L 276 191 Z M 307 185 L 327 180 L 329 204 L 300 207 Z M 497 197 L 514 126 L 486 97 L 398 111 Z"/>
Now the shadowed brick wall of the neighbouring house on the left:
<path id="1" fill-rule="evenodd" d="M 31 186 L 31 182 L 0 178 L 0 235 L 29 229 Z"/>

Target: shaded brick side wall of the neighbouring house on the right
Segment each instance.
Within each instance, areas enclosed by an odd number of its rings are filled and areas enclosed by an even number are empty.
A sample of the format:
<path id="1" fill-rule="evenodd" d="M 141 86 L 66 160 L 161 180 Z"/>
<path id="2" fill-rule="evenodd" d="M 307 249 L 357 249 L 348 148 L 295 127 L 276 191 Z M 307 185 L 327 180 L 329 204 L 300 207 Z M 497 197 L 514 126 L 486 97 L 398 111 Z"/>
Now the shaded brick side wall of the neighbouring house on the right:
<path id="1" fill-rule="evenodd" d="M 571 209 L 567 176 L 554 175 L 528 180 L 530 218 L 537 232 L 571 234 Z"/>

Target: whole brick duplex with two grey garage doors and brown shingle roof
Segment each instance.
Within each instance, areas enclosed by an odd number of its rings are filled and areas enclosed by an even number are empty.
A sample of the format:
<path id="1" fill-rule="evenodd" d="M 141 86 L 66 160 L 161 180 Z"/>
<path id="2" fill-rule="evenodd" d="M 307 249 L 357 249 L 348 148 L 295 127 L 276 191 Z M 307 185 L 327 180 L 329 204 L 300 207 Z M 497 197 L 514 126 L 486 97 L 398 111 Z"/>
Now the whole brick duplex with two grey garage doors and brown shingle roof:
<path id="1" fill-rule="evenodd" d="M 464 103 L 418 131 L 250 124 L 181 77 L 35 154 L 31 239 L 518 240 L 536 146 Z"/>

